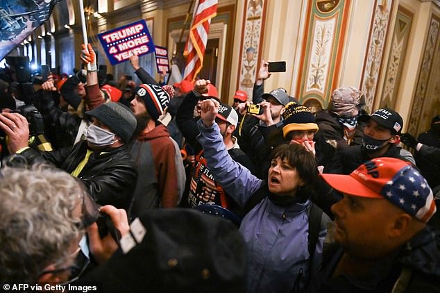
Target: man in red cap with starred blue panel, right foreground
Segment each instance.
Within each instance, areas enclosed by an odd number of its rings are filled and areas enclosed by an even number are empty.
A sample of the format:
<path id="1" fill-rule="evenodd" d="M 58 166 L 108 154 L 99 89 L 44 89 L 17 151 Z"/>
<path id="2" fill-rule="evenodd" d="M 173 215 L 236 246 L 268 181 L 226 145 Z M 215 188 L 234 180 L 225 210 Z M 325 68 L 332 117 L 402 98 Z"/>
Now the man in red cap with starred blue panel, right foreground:
<path id="1" fill-rule="evenodd" d="M 335 243 L 310 292 L 439 292 L 440 232 L 427 225 L 434 198 L 409 162 L 374 158 L 322 176 L 344 199 L 332 206 Z"/>

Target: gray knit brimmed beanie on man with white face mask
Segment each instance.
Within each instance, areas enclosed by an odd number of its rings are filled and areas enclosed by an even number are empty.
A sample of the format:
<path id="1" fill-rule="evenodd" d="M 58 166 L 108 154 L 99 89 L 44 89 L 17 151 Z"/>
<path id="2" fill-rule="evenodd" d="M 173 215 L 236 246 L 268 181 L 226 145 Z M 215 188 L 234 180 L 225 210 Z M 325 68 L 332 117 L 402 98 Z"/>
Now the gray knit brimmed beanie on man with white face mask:
<path id="1" fill-rule="evenodd" d="M 133 112 L 121 103 L 103 103 L 98 108 L 85 112 L 85 115 L 95 117 L 107 125 L 124 142 L 130 140 L 137 126 L 137 120 Z"/>

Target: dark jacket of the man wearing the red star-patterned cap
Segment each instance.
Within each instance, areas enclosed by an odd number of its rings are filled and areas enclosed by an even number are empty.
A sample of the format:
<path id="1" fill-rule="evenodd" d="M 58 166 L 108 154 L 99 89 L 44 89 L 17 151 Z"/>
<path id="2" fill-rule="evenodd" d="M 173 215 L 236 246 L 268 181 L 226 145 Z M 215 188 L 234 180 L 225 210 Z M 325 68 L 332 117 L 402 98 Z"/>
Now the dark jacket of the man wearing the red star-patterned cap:
<path id="1" fill-rule="evenodd" d="M 307 292 L 440 292 L 440 232 L 430 226 L 380 260 L 369 278 L 333 277 L 343 253 L 336 243 L 324 247 L 323 264 Z M 409 274 L 402 274 L 403 269 Z"/>

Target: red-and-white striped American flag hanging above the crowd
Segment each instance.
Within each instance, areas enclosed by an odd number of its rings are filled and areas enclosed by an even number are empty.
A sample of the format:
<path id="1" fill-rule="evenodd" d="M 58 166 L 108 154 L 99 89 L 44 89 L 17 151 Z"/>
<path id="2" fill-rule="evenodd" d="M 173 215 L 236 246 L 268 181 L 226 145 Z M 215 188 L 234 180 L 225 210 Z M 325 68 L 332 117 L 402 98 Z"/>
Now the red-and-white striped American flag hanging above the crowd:
<path id="1" fill-rule="evenodd" d="M 211 19 L 217 15 L 217 3 L 218 0 L 196 0 L 189 36 L 183 52 L 183 56 L 187 58 L 183 79 L 187 81 L 194 81 L 202 69 Z"/>

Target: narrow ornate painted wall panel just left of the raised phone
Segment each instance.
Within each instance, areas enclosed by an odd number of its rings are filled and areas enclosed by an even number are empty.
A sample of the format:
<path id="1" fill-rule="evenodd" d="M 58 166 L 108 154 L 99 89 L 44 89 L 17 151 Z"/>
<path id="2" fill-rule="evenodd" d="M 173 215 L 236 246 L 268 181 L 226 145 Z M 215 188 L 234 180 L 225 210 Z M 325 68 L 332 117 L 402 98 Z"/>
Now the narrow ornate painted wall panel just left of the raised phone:
<path id="1" fill-rule="evenodd" d="M 255 75 L 260 66 L 266 6 L 266 0 L 246 0 L 244 5 L 237 88 L 248 94 L 249 101 L 252 101 Z"/>

